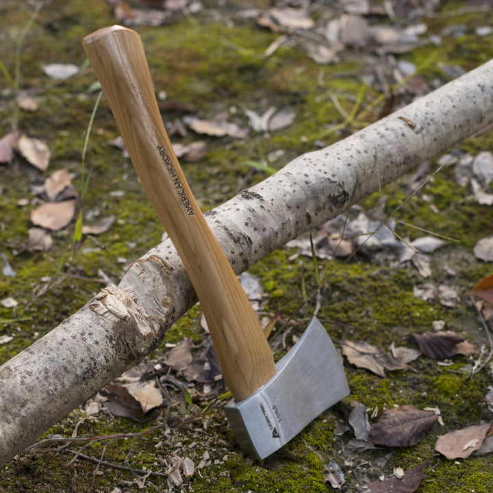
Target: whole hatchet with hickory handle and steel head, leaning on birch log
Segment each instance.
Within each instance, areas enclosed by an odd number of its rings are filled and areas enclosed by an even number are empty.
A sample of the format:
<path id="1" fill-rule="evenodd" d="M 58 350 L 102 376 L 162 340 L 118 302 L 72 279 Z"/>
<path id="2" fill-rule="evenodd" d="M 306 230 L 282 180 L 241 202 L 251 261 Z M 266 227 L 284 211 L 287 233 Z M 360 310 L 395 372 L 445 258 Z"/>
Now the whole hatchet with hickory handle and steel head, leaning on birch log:
<path id="1" fill-rule="evenodd" d="M 277 363 L 253 307 L 220 249 L 164 127 L 140 36 L 114 25 L 84 51 L 144 190 L 192 281 L 233 399 L 225 407 L 245 453 L 264 459 L 349 394 L 338 351 L 314 318 Z"/>

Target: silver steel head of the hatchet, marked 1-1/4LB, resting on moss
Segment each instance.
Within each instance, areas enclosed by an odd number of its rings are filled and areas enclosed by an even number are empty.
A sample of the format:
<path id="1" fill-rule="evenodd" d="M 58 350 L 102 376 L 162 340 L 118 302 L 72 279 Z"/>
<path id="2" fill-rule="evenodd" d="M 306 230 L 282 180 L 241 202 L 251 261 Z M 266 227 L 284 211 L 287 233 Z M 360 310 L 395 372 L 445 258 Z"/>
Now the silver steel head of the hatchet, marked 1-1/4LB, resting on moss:
<path id="1" fill-rule="evenodd" d="M 316 318 L 276 364 L 273 377 L 225 413 L 244 453 L 264 459 L 349 395 L 340 355 Z"/>

